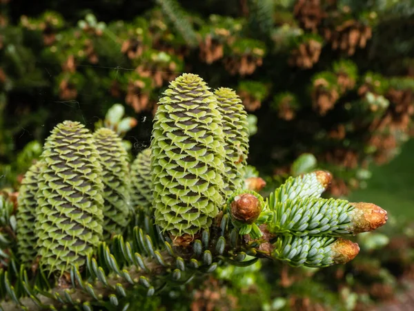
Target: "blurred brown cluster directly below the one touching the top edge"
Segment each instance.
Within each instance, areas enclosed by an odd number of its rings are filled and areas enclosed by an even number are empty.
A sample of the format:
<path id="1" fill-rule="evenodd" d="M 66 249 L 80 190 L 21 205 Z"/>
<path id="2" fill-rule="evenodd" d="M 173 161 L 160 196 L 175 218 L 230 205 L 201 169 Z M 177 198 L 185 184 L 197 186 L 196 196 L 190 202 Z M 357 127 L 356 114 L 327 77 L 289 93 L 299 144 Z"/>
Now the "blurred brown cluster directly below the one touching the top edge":
<path id="1" fill-rule="evenodd" d="M 316 40 L 304 42 L 298 48 L 292 50 L 288 64 L 303 69 L 312 68 L 319 61 L 321 50 L 322 44 Z"/>

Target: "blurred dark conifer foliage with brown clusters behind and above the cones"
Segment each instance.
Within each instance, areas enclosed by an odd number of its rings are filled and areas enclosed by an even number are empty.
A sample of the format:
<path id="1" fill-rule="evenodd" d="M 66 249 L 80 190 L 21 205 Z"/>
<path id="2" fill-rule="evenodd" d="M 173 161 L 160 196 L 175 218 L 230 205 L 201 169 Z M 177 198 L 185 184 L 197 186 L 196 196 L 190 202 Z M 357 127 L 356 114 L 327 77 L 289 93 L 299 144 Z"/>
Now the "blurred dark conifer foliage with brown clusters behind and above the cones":
<path id="1" fill-rule="evenodd" d="M 364 185 L 366 165 L 393 158 L 410 135 L 409 0 L 124 5 L 106 1 L 86 13 L 79 2 L 81 11 L 66 14 L 63 3 L 56 12 L 2 4 L 1 175 L 13 174 L 14 149 L 30 135 L 44 140 L 55 120 L 90 120 L 115 102 L 149 119 L 159 92 L 185 70 L 237 90 L 255 113 L 250 164 L 270 176 L 313 153 L 335 173 L 335 196 Z M 141 122 L 127 139 L 148 142 L 150 127 Z"/>

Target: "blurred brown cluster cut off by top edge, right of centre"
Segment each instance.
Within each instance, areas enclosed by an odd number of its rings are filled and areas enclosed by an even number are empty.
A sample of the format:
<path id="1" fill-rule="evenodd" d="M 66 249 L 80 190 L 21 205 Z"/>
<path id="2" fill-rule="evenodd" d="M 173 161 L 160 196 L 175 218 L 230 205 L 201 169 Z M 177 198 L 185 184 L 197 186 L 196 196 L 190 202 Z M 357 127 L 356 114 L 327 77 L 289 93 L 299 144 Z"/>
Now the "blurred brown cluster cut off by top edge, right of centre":
<path id="1" fill-rule="evenodd" d="M 317 26 L 326 17 L 320 0 L 298 0 L 293 8 L 293 16 L 302 28 L 317 31 Z"/>

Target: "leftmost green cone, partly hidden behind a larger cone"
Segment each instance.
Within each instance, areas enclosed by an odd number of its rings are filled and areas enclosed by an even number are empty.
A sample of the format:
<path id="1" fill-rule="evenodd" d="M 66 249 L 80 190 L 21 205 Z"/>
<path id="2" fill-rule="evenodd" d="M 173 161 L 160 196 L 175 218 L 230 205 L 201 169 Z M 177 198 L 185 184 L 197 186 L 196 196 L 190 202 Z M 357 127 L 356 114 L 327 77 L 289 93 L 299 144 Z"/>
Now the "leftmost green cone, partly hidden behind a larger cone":
<path id="1" fill-rule="evenodd" d="M 17 204 L 17 252 L 21 263 L 30 265 L 37 255 L 37 238 L 34 235 L 36 220 L 36 192 L 43 162 L 38 161 L 26 172 L 19 189 Z"/>

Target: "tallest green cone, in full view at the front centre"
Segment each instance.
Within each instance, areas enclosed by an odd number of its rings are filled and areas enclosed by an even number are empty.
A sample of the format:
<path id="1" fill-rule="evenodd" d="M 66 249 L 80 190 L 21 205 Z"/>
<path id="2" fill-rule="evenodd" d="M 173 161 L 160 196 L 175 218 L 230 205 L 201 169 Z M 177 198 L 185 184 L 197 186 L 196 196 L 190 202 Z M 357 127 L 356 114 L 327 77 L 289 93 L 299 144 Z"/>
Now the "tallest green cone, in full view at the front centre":
<path id="1" fill-rule="evenodd" d="M 224 134 L 198 75 L 177 77 L 159 100 L 151 149 L 157 225 L 175 236 L 210 227 L 224 205 Z"/>

